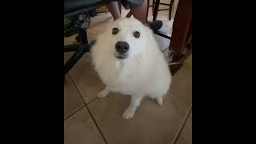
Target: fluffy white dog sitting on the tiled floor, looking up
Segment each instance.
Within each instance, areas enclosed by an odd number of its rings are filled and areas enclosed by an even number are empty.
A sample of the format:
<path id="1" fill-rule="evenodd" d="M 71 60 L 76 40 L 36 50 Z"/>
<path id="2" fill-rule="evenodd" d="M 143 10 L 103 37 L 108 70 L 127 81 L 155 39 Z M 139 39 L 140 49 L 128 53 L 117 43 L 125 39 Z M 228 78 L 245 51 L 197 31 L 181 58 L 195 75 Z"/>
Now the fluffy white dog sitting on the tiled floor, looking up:
<path id="1" fill-rule="evenodd" d="M 98 37 L 91 52 L 95 70 L 106 85 L 98 98 L 110 91 L 131 96 L 123 118 L 133 118 L 146 96 L 162 106 L 170 70 L 150 28 L 134 18 L 120 18 Z"/>

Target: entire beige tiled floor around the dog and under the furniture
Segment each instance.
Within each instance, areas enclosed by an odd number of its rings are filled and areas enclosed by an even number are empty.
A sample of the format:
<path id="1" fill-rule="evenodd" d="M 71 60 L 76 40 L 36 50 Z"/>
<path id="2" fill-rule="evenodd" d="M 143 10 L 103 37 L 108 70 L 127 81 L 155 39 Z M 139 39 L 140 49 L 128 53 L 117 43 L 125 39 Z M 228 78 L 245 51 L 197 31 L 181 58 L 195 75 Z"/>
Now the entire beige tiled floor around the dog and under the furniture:
<path id="1" fill-rule="evenodd" d="M 123 14 L 126 14 L 124 11 Z M 150 18 L 150 17 L 149 17 Z M 167 13 L 163 29 L 170 29 Z M 110 14 L 92 18 L 88 37 L 94 39 L 107 22 Z M 64 38 L 64 45 L 74 42 L 74 36 Z M 162 49 L 169 40 L 155 36 Z M 64 62 L 72 53 L 64 54 Z M 173 77 L 170 92 L 163 106 L 145 99 L 130 121 L 122 119 L 129 98 L 120 94 L 98 99 L 103 84 L 86 54 L 66 75 L 64 82 L 64 143 L 65 144 L 190 144 L 192 143 L 192 56 L 182 70 Z"/>

